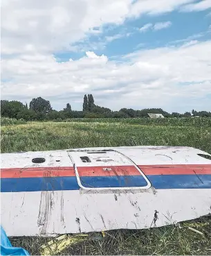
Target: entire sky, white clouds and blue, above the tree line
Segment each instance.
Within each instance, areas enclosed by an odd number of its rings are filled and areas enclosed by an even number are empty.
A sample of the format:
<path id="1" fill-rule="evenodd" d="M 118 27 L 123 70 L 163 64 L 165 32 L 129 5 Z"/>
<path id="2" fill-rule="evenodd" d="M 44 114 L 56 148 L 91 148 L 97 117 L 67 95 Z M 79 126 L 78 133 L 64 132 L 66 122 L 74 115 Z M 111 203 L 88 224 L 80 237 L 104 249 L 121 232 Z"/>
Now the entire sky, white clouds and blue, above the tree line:
<path id="1" fill-rule="evenodd" d="M 211 1 L 3 1 L 1 99 L 211 110 Z"/>

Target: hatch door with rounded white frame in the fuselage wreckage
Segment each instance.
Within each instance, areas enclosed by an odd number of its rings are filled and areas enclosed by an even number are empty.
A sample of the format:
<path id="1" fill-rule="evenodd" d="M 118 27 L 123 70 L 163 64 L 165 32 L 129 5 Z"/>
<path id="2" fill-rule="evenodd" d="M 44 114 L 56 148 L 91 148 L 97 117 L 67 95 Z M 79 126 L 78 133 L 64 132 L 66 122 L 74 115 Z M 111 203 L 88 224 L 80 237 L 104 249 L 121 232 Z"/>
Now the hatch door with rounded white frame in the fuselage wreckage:
<path id="1" fill-rule="evenodd" d="M 68 151 L 82 189 L 148 189 L 145 174 L 118 151 Z"/>

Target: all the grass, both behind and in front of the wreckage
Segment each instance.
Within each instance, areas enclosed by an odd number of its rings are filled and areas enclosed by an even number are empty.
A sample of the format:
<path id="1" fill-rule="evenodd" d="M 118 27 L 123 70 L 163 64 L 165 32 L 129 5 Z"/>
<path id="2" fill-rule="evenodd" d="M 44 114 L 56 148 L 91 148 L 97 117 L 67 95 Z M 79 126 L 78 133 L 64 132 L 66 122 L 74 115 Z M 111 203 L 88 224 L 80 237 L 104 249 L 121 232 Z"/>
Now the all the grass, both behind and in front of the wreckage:
<path id="1" fill-rule="evenodd" d="M 91 146 L 193 146 L 211 153 L 211 119 L 72 119 L 66 122 L 1 121 L 1 153 Z M 196 223 L 190 221 L 188 223 Z M 62 255 L 210 255 L 211 218 L 203 217 L 197 234 L 175 226 L 107 232 L 100 241 L 80 242 Z M 37 255 L 48 239 L 11 238 Z"/>

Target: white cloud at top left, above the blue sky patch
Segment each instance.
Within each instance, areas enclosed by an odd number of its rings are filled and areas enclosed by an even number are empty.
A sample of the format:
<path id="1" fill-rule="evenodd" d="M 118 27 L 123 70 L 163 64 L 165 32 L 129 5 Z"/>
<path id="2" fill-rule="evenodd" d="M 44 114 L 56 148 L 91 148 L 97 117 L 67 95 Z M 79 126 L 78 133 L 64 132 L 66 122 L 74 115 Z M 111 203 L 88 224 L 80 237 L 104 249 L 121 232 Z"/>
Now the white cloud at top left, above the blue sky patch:
<path id="1" fill-rule="evenodd" d="M 122 24 L 142 14 L 175 10 L 194 0 L 3 0 L 1 54 L 77 51 L 73 43 L 98 35 L 104 24 Z"/>

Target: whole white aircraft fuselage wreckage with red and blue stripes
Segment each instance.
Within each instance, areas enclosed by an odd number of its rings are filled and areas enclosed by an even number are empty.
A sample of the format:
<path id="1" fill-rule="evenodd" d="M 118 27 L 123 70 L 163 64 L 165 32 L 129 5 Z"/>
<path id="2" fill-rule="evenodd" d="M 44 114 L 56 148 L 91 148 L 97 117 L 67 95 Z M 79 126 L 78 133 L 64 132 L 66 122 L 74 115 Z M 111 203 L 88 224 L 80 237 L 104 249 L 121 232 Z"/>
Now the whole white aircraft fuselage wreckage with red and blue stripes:
<path id="1" fill-rule="evenodd" d="M 211 155 L 183 146 L 1 154 L 8 236 L 145 229 L 211 212 Z"/>

